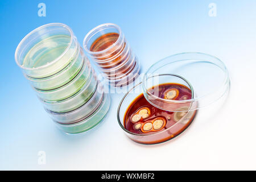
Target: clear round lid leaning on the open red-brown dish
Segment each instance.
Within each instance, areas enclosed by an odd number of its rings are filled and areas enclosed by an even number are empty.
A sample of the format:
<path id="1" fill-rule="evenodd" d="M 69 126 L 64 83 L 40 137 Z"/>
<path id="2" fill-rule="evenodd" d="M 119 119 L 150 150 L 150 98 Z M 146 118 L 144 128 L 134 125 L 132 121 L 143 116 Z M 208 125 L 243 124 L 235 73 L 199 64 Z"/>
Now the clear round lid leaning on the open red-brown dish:
<path id="1" fill-rule="evenodd" d="M 191 97 L 167 100 L 160 95 L 161 84 L 176 83 L 191 90 Z M 229 92 L 228 69 L 217 57 L 199 52 L 179 53 L 153 64 L 142 78 L 144 97 L 167 111 L 197 110 L 213 104 Z"/>

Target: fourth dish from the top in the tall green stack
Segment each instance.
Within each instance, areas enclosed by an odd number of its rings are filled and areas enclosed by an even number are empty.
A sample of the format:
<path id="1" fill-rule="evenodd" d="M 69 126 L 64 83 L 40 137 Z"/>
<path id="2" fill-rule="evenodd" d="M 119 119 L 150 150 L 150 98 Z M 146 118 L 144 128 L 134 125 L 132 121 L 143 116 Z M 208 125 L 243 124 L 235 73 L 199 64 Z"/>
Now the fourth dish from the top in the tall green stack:
<path id="1" fill-rule="evenodd" d="M 62 101 L 43 101 L 44 108 L 55 113 L 67 113 L 84 105 L 97 89 L 97 80 L 94 75 L 84 87 L 75 95 Z"/>

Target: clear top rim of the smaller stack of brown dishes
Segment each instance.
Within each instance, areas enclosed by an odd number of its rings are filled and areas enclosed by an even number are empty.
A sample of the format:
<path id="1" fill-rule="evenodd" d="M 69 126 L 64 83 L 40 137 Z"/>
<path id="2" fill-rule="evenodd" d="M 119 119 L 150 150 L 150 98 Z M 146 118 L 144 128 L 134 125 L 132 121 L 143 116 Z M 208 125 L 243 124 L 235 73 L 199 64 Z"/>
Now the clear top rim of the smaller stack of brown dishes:
<path id="1" fill-rule="evenodd" d="M 109 27 L 113 27 L 113 28 L 116 28 L 118 30 L 118 39 L 117 41 L 115 41 L 115 43 L 113 43 L 110 47 L 102 50 L 102 51 L 96 51 L 96 52 L 93 52 L 93 51 L 90 51 L 88 48 L 87 48 L 87 44 L 88 44 L 88 41 L 90 40 L 90 38 L 92 38 L 92 36 L 94 36 L 95 34 L 97 34 L 97 32 L 101 31 L 102 29 L 104 30 L 104 28 L 109 28 Z M 106 51 L 109 51 L 110 49 L 112 49 L 114 46 L 116 46 L 119 42 L 121 42 L 121 44 L 124 42 L 124 36 L 121 36 L 123 33 L 121 31 L 121 28 L 117 25 L 117 24 L 114 24 L 114 23 L 104 23 L 104 24 L 100 24 L 98 25 L 97 27 L 94 27 L 92 30 L 90 30 L 86 35 L 85 35 L 85 38 L 84 38 L 84 42 L 82 43 L 83 46 L 84 46 L 84 49 L 86 52 L 88 52 L 89 54 L 100 54 L 100 53 L 104 53 Z M 121 37 L 122 40 L 121 40 Z"/>

